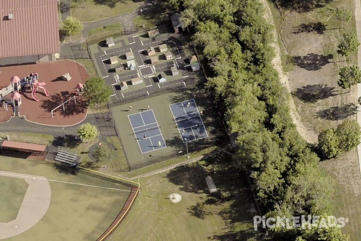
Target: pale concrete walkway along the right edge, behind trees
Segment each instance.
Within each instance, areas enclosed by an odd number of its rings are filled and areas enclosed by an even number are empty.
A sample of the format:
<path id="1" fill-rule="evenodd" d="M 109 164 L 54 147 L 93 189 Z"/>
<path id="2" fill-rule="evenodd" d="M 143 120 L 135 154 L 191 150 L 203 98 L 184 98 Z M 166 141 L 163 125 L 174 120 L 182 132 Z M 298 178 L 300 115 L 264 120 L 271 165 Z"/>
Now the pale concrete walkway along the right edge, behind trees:
<path id="1" fill-rule="evenodd" d="M 361 3 L 360 0 L 355 0 L 355 18 L 357 39 L 361 42 Z M 361 47 L 357 51 L 357 65 L 361 67 Z M 357 99 L 361 96 L 361 84 L 357 85 Z M 361 125 L 361 106 L 357 103 L 357 122 Z M 361 173 L 361 144 L 357 146 L 358 162 Z"/>

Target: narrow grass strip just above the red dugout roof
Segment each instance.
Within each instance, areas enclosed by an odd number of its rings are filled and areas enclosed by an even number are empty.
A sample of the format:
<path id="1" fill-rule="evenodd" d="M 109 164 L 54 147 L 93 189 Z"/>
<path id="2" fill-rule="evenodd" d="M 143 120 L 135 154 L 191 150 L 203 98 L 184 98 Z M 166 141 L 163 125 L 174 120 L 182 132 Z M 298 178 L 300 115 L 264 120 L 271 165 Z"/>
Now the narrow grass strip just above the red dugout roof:
<path id="1" fill-rule="evenodd" d="M 19 132 L 0 132 L 0 137 L 5 138 L 6 135 L 9 135 L 11 141 L 29 142 L 41 145 L 49 145 L 53 142 L 54 139 L 52 135 Z"/>

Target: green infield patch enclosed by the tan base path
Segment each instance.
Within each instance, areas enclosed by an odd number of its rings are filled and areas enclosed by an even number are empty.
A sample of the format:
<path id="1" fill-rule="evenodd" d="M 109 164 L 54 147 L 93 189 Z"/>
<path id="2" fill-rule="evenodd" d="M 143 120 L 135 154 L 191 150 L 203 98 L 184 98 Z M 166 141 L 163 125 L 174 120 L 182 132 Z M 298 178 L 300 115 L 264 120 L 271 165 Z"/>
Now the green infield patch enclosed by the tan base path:
<path id="1" fill-rule="evenodd" d="M 0 211 L 0 223 L 16 219 L 28 186 L 24 179 L 0 176 L 0 210 L 6 210 Z"/>

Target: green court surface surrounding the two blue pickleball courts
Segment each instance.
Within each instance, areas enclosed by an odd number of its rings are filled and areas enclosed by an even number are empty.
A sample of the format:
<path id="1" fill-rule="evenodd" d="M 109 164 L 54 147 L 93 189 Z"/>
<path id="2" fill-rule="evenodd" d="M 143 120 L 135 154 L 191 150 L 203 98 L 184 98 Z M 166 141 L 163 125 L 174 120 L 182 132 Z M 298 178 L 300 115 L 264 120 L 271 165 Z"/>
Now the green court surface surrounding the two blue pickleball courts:
<path id="1" fill-rule="evenodd" d="M 196 88 L 191 88 L 188 90 L 184 89 L 170 93 L 165 92 L 165 94 L 150 97 L 147 99 L 139 99 L 136 102 L 132 102 L 130 104 L 123 104 L 111 108 L 113 119 L 116 123 L 119 136 L 121 138 L 128 162 L 131 167 L 139 168 L 139 165 L 145 167 L 147 165 L 145 163 L 147 163 L 148 161 L 160 159 L 162 158 L 162 156 L 179 156 L 179 151 L 182 151 L 183 155 L 186 154 L 186 144 L 183 143 L 182 136 L 179 133 L 177 125 L 175 124 L 174 117 L 169 105 L 190 99 L 195 100 L 199 111 L 204 111 L 202 119 L 206 131 L 209 134 L 210 132 L 212 132 L 212 129 L 214 129 L 214 127 L 212 126 L 214 122 L 213 118 L 209 116 L 209 112 L 205 111 L 205 106 L 209 106 L 209 103 L 207 103 L 208 99 L 206 98 L 206 95 L 204 95 L 204 92 L 202 90 L 197 90 Z M 142 154 L 134 132 L 132 130 L 128 115 L 146 111 L 147 105 L 149 105 L 150 109 L 153 110 L 158 125 L 160 125 L 160 131 L 166 143 L 166 148 Z M 132 106 L 132 111 L 129 111 L 129 106 Z M 192 146 L 200 145 L 200 143 L 204 144 L 210 140 L 210 137 L 208 137 L 201 140 L 189 142 L 188 149 L 191 151 Z M 212 145 L 209 144 L 208 146 Z M 164 158 L 164 160 L 166 160 L 166 158 Z M 131 168 L 131 170 L 134 170 L 136 168 Z"/>

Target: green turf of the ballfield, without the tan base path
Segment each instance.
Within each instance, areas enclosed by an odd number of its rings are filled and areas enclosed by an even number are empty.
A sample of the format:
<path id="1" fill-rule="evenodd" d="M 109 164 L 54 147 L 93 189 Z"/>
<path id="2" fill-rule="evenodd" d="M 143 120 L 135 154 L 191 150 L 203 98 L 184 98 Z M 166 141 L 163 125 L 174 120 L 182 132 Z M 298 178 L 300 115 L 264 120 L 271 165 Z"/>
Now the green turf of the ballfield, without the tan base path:
<path id="1" fill-rule="evenodd" d="M 51 188 L 51 202 L 45 215 L 30 229 L 4 241 L 95 241 L 117 217 L 131 190 L 86 174 L 64 173 L 64 169 L 47 162 L 1 156 L 0 171 L 43 176 Z M 0 177 L 0 222 L 16 213 L 26 189 L 24 184 L 21 178 Z M 8 199 L 13 203 L 5 202 Z M 3 202 L 9 208 L 4 208 Z"/>

